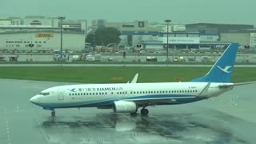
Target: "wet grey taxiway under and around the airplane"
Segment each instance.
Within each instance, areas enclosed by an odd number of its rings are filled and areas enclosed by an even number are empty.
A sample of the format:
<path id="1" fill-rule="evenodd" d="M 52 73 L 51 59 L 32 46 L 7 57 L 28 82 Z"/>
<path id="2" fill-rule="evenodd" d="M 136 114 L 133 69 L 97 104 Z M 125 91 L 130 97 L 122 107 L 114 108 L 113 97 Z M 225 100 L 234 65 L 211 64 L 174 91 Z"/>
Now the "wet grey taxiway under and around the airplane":
<path id="1" fill-rule="evenodd" d="M 147 117 L 86 108 L 57 110 L 53 118 L 29 102 L 66 84 L 0 79 L 0 143 L 255 143 L 256 85 L 202 102 L 149 107 Z"/>

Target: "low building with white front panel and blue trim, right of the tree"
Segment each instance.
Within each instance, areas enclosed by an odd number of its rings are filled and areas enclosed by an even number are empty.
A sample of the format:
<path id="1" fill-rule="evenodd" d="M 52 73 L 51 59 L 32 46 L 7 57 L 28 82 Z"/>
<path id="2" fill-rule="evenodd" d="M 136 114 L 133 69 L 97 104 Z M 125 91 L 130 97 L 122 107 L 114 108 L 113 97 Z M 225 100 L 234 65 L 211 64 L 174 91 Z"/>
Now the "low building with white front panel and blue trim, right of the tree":
<path id="1" fill-rule="evenodd" d="M 230 42 L 220 42 L 216 41 L 216 39 L 218 39 L 218 36 L 215 34 L 200 35 L 198 32 L 171 32 L 168 33 L 167 42 L 167 33 L 164 32 L 159 34 L 157 40 L 144 41 L 142 42 L 142 44 L 145 47 L 145 50 L 149 51 L 166 50 L 167 47 L 169 47 L 170 50 L 210 50 L 218 46 L 226 47 L 230 44 Z"/>

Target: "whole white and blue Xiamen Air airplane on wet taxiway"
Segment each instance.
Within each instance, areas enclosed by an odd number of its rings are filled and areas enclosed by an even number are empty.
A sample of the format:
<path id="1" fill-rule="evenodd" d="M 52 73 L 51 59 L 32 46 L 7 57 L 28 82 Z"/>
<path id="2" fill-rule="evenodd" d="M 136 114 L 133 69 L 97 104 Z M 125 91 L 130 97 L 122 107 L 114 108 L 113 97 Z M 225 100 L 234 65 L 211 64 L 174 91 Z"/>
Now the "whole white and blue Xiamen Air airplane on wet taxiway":
<path id="1" fill-rule="evenodd" d="M 147 106 L 177 105 L 216 97 L 234 86 L 231 83 L 238 43 L 231 43 L 210 71 L 190 82 L 137 83 L 138 74 L 131 82 L 116 84 L 81 84 L 55 86 L 42 90 L 30 102 L 51 110 L 58 108 L 97 107 L 113 109 L 115 113 L 148 115 Z"/>

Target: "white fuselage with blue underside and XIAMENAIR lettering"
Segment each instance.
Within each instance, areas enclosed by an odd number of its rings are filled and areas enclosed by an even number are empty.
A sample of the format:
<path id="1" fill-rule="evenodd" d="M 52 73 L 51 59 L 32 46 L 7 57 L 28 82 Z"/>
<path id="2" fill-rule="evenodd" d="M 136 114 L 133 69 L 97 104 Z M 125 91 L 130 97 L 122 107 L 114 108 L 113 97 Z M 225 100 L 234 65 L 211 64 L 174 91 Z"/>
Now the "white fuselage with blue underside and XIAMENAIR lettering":
<path id="1" fill-rule="evenodd" d="M 30 99 L 45 109 L 111 106 L 115 101 L 136 102 L 138 106 L 173 105 L 196 102 L 230 90 L 223 83 L 161 82 L 124 84 L 83 84 L 56 86 Z M 231 84 L 231 83 L 230 83 Z"/>

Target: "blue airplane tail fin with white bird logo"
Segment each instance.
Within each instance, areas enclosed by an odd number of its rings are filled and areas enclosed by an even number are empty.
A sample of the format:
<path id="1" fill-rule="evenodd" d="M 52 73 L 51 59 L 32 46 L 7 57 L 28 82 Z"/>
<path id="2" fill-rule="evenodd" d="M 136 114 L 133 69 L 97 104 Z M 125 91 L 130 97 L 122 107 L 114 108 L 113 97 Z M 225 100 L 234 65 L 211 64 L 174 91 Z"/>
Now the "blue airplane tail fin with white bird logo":
<path id="1" fill-rule="evenodd" d="M 231 43 L 210 71 L 201 78 L 193 79 L 192 82 L 230 82 L 237 51 L 238 43 Z"/>

